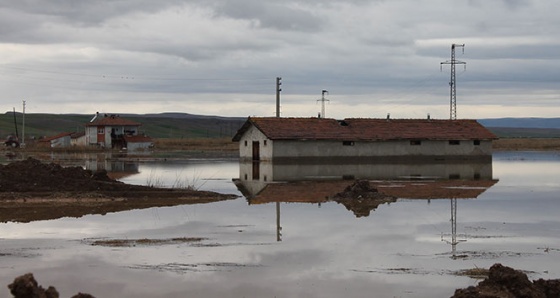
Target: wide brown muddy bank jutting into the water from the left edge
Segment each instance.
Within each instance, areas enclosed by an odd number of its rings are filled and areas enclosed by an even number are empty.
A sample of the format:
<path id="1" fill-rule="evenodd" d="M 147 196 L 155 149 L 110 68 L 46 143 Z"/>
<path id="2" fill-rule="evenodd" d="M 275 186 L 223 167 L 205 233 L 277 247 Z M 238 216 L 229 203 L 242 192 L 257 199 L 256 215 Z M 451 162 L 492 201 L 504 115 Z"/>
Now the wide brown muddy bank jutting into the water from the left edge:
<path id="1" fill-rule="evenodd" d="M 62 167 L 33 158 L 0 165 L 0 222 L 81 217 L 132 209 L 234 199 L 193 189 L 130 185 L 82 167 Z"/>

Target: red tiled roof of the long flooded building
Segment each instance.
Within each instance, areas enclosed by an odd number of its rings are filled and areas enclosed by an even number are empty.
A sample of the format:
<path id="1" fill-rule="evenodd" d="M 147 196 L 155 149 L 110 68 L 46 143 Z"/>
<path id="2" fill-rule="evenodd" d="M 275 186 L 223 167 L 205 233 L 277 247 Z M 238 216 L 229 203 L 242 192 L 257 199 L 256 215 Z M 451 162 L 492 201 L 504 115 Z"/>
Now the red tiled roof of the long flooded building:
<path id="1" fill-rule="evenodd" d="M 249 117 L 233 140 L 239 141 L 252 125 L 271 140 L 497 139 L 476 120 Z"/>

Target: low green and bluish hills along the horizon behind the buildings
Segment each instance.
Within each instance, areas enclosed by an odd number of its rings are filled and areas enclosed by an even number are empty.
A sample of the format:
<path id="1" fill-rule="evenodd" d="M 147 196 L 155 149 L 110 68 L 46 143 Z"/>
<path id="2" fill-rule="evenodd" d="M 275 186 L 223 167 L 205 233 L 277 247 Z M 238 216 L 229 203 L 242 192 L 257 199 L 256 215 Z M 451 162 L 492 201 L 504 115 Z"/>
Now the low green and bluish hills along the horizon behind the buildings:
<path id="1" fill-rule="evenodd" d="M 153 138 L 233 137 L 246 117 L 221 117 L 188 113 L 119 114 L 142 123 L 140 131 Z M 61 132 L 83 131 L 93 114 L 26 114 L 26 137 L 53 136 Z M 22 133 L 22 114 L 16 112 L 18 134 Z M 560 118 L 480 119 L 499 137 L 560 137 Z M 0 114 L 0 139 L 15 134 L 14 114 Z"/>

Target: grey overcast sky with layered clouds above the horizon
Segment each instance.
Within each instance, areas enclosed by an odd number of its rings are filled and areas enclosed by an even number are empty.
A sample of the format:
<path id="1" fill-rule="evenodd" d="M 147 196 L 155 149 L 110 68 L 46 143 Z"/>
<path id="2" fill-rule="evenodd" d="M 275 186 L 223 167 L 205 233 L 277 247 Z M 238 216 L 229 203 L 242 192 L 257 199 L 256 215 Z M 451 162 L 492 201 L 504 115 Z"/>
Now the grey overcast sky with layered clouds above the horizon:
<path id="1" fill-rule="evenodd" d="M 557 0 L 1 0 L 0 112 L 560 117 Z M 466 66 L 466 69 L 465 69 Z M 441 67 L 441 68 L 440 68 Z"/>

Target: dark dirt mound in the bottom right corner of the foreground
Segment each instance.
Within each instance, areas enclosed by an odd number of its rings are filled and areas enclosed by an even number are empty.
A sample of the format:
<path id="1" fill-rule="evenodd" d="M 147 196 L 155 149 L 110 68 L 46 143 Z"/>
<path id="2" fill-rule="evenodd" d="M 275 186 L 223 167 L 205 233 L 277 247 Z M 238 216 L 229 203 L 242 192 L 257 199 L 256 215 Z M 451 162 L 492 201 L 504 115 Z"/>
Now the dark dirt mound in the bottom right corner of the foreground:
<path id="1" fill-rule="evenodd" d="M 490 267 L 488 278 L 476 287 L 457 289 L 451 298 L 558 298 L 560 280 L 539 279 L 531 282 L 519 270 L 494 264 Z"/>

